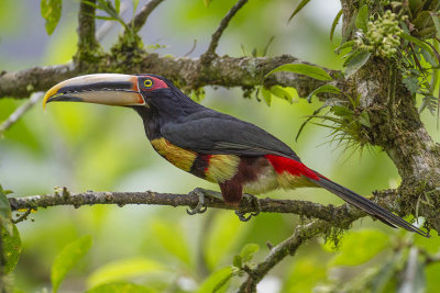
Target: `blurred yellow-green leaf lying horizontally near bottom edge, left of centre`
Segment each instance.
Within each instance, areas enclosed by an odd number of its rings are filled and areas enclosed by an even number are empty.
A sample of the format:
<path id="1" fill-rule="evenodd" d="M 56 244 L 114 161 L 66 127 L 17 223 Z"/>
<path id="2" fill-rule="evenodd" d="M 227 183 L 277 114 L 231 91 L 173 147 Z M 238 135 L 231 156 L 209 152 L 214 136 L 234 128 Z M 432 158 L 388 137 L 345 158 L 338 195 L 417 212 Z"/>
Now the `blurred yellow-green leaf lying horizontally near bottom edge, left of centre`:
<path id="1" fill-rule="evenodd" d="M 105 283 L 127 280 L 152 272 L 163 272 L 162 263 L 146 258 L 116 260 L 103 264 L 90 274 L 87 285 L 97 286 Z"/>

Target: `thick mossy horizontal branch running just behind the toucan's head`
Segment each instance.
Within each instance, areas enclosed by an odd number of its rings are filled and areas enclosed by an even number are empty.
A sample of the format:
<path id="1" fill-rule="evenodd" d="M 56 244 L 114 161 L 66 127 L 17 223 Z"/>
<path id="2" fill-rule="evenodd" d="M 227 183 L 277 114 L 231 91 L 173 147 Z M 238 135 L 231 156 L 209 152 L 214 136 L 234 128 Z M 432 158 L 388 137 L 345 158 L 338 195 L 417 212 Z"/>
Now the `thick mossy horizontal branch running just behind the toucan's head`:
<path id="1" fill-rule="evenodd" d="M 277 72 L 264 79 L 272 69 L 288 63 L 302 63 L 289 55 L 276 57 L 216 57 L 206 67 L 198 70 L 200 58 L 161 57 L 157 54 L 146 54 L 141 61 L 120 64 L 111 56 L 101 58 L 102 67 L 95 68 L 84 64 L 79 69 L 75 64 L 57 65 L 50 67 L 34 67 L 16 72 L 0 74 L 0 99 L 6 97 L 29 98 L 34 91 L 46 91 L 55 83 L 65 79 L 94 72 L 150 72 L 165 76 L 180 87 L 193 89 L 204 86 L 243 87 L 253 88 L 261 86 L 295 87 L 300 97 L 307 97 L 312 90 L 323 82 L 307 76 L 293 72 Z M 309 64 L 309 63 L 305 63 Z M 326 68 L 324 68 L 326 69 Z M 338 70 L 326 69 L 330 75 L 337 76 Z M 343 80 L 341 80 L 343 82 Z"/>

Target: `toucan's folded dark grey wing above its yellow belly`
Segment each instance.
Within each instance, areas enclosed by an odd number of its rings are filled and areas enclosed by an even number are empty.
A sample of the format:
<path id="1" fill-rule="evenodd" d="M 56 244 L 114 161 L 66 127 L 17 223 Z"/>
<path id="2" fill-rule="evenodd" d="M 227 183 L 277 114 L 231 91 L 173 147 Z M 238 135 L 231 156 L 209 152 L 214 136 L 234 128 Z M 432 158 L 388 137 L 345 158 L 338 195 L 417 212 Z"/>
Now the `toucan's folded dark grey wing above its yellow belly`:
<path id="1" fill-rule="evenodd" d="M 213 110 L 194 113 L 180 122 L 166 123 L 162 125 L 161 133 L 172 144 L 200 154 L 272 154 L 299 161 L 295 151 L 272 134 Z"/>

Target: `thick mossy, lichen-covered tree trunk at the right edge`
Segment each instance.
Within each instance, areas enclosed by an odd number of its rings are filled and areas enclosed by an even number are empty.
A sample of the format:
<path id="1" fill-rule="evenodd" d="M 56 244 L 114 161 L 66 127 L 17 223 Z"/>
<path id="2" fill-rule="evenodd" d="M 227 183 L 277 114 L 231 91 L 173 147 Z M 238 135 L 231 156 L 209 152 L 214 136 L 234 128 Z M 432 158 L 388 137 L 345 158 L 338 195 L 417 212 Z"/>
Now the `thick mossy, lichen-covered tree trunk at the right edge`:
<path id="1" fill-rule="evenodd" d="M 360 7 L 349 0 L 341 0 L 341 4 L 343 35 L 352 40 Z M 440 145 L 421 122 L 397 64 L 372 54 L 348 79 L 344 94 L 359 99 L 353 113 L 365 113 L 370 121 L 358 135 L 348 136 L 352 143 L 380 146 L 386 151 L 402 177 L 397 193 L 402 213 L 424 215 L 427 228 L 440 232 Z"/>

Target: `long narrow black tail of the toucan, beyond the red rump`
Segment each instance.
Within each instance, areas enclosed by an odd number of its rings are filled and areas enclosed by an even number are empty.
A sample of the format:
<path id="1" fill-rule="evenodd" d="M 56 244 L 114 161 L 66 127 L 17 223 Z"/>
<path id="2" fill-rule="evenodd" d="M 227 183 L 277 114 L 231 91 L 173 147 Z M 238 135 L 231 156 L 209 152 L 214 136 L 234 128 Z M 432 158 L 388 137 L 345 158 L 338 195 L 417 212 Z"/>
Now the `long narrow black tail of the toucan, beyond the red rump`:
<path id="1" fill-rule="evenodd" d="M 318 174 L 319 176 L 319 174 Z M 321 188 L 327 189 L 328 191 L 337 194 L 339 198 L 344 200 L 345 202 L 361 209 L 365 213 L 376 217 L 377 219 L 384 222 L 388 226 L 393 228 L 397 228 L 397 226 L 405 228 L 409 232 L 415 232 L 421 236 L 429 238 L 430 236 L 422 232 L 421 229 L 417 228 L 416 226 L 411 225 L 410 223 L 406 222 L 402 217 L 396 216 L 388 210 L 382 207 L 381 205 L 375 204 L 374 202 L 365 199 L 362 195 L 322 177 L 319 176 L 320 180 L 310 179 L 312 182 L 318 184 Z"/>

